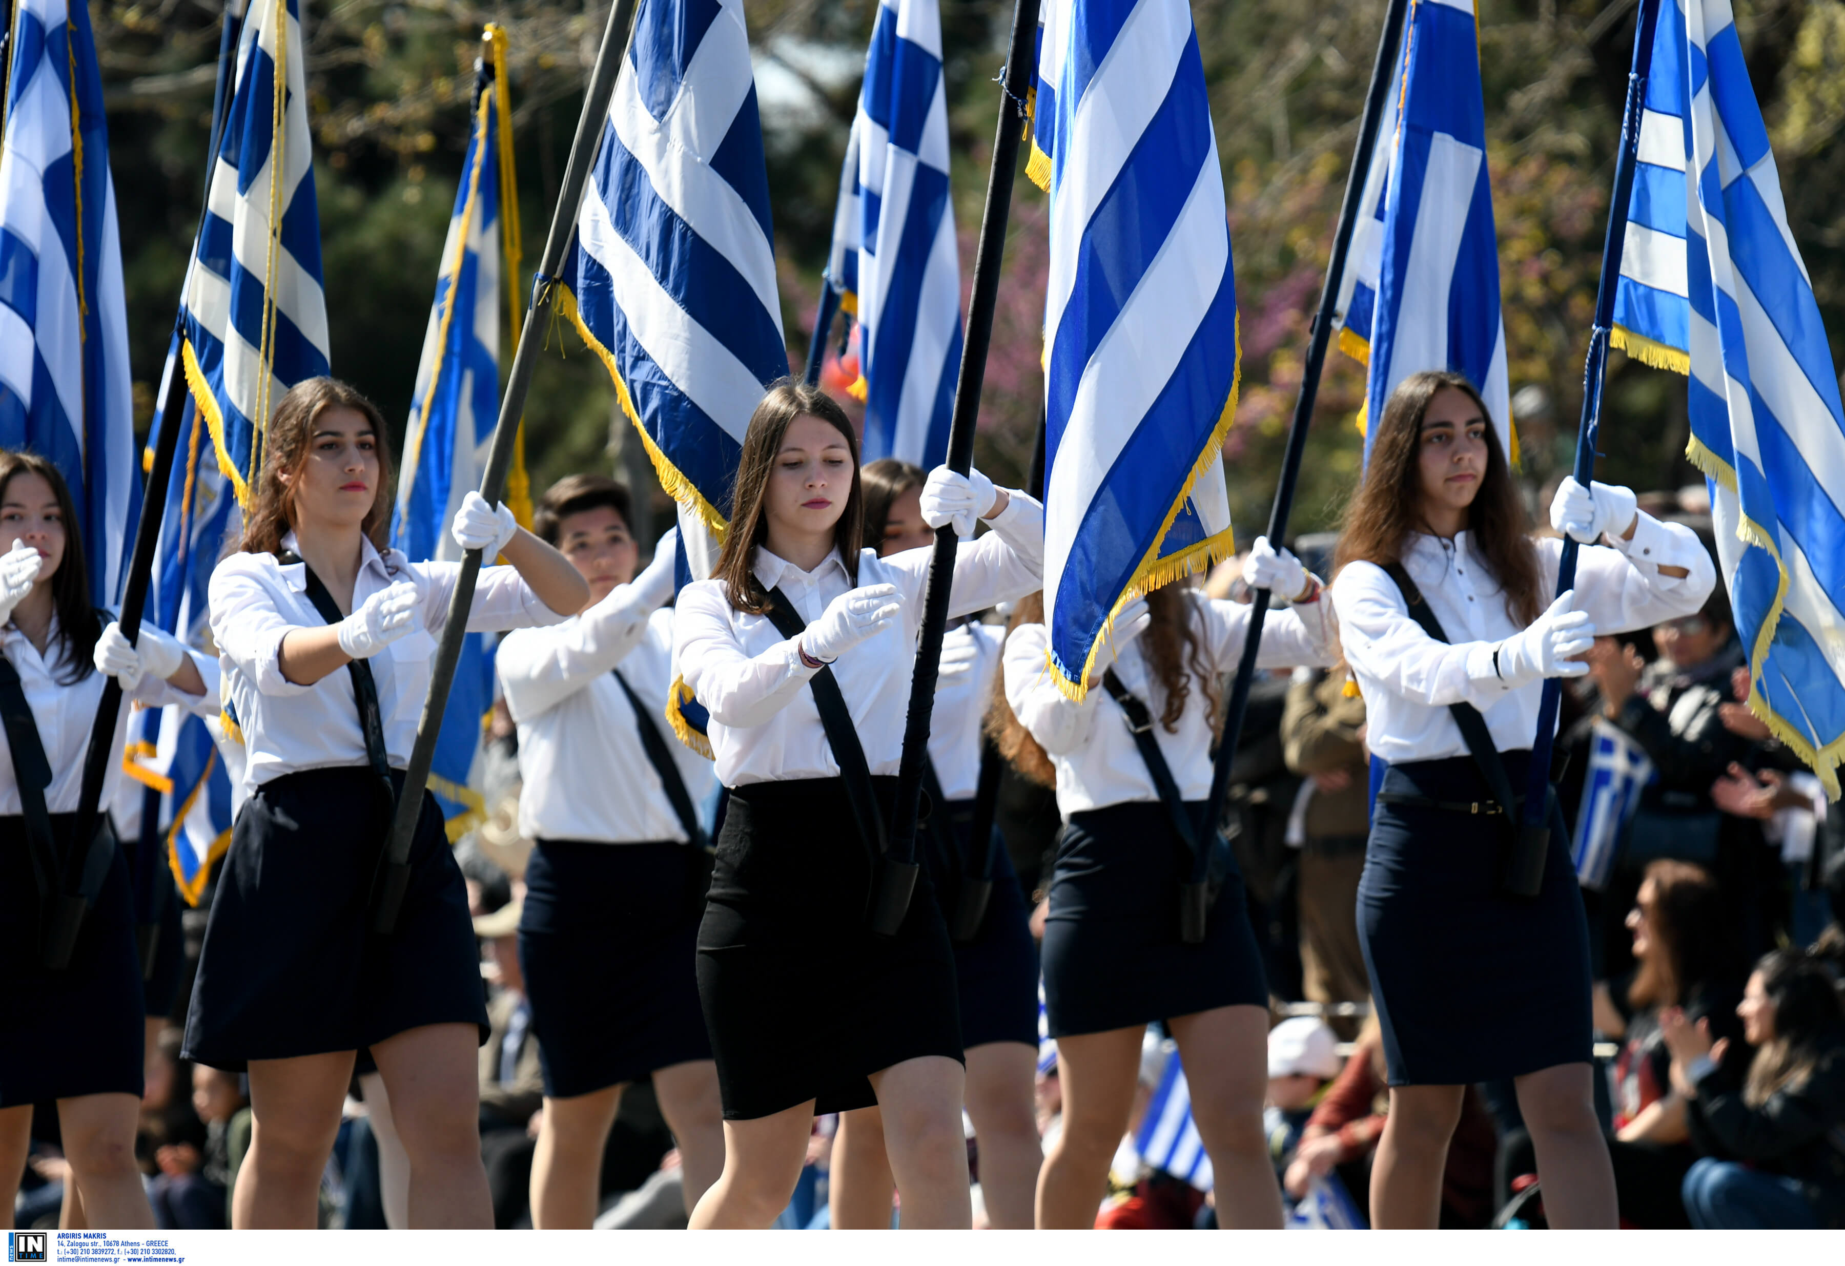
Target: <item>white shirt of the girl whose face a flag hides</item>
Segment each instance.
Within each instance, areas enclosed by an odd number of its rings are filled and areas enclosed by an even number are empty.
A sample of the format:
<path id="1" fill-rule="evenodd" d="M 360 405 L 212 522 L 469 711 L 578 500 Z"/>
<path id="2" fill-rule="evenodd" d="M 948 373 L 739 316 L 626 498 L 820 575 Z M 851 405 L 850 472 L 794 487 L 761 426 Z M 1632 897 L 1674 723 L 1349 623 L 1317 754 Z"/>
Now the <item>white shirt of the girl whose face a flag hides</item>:
<path id="1" fill-rule="evenodd" d="M 1192 603 L 1192 627 L 1201 635 L 1199 661 L 1205 672 L 1218 677 L 1236 672 L 1249 631 L 1249 607 L 1240 602 L 1207 598 L 1186 589 Z M 1323 600 L 1271 611 L 1262 622 L 1258 668 L 1293 668 L 1297 664 L 1323 666 L 1334 659 L 1332 629 L 1327 627 Z M 1046 648 L 1050 635 L 1042 624 L 1020 624 L 1006 639 L 1006 701 L 1013 705 L 1018 722 L 1031 731 L 1044 755 L 1057 770 L 1057 810 L 1065 821 L 1087 808 L 1107 808 L 1127 801 L 1159 801 L 1153 777 L 1127 729 L 1127 714 L 1109 696 L 1098 679 L 1081 703 L 1074 703 L 1050 677 Z M 1190 655 L 1186 672 L 1192 672 Z M 1153 736 L 1186 801 L 1210 795 L 1210 705 L 1205 683 L 1192 674 L 1179 733 L 1172 735 L 1159 716 L 1166 707 L 1166 692 L 1146 659 L 1146 637 L 1137 637 L 1122 650 L 1114 675 L 1155 716 Z"/>

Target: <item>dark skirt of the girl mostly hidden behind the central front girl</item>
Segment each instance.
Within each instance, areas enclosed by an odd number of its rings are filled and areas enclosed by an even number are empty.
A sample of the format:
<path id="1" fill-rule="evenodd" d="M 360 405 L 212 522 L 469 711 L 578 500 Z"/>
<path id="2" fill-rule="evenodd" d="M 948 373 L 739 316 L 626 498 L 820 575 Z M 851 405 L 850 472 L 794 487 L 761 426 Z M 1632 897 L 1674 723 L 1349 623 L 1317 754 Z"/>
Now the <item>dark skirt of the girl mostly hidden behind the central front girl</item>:
<path id="1" fill-rule="evenodd" d="M 948 917 L 959 899 L 961 877 L 969 873 L 974 836 L 974 801 L 946 806 L 954 832 L 948 854 L 930 847 L 922 862 L 935 882 L 943 914 Z M 1031 941 L 1031 912 L 1026 908 L 1013 860 L 1006 843 L 993 840 L 993 895 L 987 914 L 970 941 L 954 941 L 954 976 L 961 1000 L 961 1041 L 967 1050 L 987 1043 L 1024 1043 L 1037 1046 L 1037 945 Z"/>

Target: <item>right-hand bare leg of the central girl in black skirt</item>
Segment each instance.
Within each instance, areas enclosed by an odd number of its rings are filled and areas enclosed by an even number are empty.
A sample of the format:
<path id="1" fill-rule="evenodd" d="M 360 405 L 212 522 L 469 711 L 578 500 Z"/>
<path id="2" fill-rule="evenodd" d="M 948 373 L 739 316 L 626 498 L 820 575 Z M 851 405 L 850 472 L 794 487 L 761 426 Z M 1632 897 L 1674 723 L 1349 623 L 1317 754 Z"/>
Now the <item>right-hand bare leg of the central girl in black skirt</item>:
<path id="1" fill-rule="evenodd" d="M 884 1113 L 884 1146 L 902 1200 L 904 1229 L 967 1231 L 974 1203 L 967 1192 L 967 1131 L 961 1102 L 967 1070 L 959 1059 L 919 1056 L 871 1074 Z"/>

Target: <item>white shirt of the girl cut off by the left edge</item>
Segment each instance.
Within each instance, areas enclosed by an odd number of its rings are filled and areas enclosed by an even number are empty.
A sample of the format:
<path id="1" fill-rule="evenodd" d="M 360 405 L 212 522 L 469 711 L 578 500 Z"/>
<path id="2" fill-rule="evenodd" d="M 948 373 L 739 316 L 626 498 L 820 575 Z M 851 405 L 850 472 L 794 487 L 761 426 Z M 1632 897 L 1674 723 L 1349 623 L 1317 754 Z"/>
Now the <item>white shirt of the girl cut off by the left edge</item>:
<path id="1" fill-rule="evenodd" d="M 39 725 L 39 742 L 44 746 L 44 758 L 52 764 L 52 786 L 44 788 L 44 806 L 54 814 L 77 812 L 77 794 L 83 788 L 83 757 L 90 747 L 90 727 L 96 723 L 96 705 L 103 698 L 107 677 L 90 668 L 83 681 L 65 685 L 59 677 L 68 677 L 68 664 L 57 646 L 57 616 L 52 616 L 46 651 L 50 661 L 39 653 L 31 639 L 18 631 L 11 620 L 0 629 L 0 655 L 7 657 L 13 672 L 18 674 L 20 688 L 26 692 L 26 705 L 31 720 Z M 205 677 L 207 694 L 214 674 L 203 666 L 203 657 L 194 653 L 199 675 Z M 100 805 L 107 812 L 114 803 L 122 784 L 122 747 L 127 738 L 127 718 L 133 709 L 127 701 L 148 707 L 181 703 L 199 707 L 199 696 L 186 694 L 153 674 L 142 674 L 133 690 L 124 690 L 124 705 L 116 709 L 116 733 L 109 747 L 107 773 L 103 775 L 103 795 Z M 138 784 L 137 784 L 138 786 Z M 0 731 L 0 816 L 17 818 L 24 812 L 18 799 L 18 781 L 13 777 L 13 749 L 7 746 L 6 731 Z"/>

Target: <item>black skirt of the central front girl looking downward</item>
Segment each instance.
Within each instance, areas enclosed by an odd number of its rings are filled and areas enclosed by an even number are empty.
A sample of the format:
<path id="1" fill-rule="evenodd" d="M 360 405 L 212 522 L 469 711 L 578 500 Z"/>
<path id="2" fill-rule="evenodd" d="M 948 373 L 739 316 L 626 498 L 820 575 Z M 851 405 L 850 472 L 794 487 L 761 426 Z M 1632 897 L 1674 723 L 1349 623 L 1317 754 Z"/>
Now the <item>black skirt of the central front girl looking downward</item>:
<path id="1" fill-rule="evenodd" d="M 873 779 L 889 812 L 897 779 Z M 961 1059 L 954 950 L 928 875 L 897 936 L 867 921 L 871 858 L 845 782 L 731 790 L 697 936 L 697 991 L 729 1120 L 815 1100 L 871 1107 L 869 1076 Z"/>

